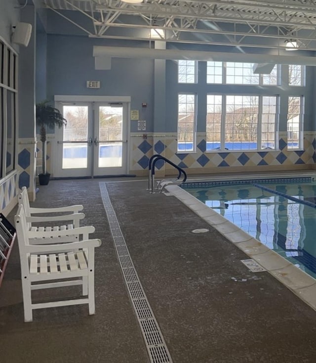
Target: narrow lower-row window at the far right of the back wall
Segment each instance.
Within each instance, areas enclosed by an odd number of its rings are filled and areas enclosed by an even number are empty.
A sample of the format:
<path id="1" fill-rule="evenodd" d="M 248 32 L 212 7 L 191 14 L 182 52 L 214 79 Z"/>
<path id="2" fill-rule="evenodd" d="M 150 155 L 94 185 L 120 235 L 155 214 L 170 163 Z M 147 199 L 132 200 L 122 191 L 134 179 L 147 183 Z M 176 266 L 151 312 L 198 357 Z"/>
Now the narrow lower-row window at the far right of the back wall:
<path id="1" fill-rule="evenodd" d="M 304 98 L 302 96 L 288 97 L 287 111 L 287 148 L 303 148 L 303 110 Z"/>

